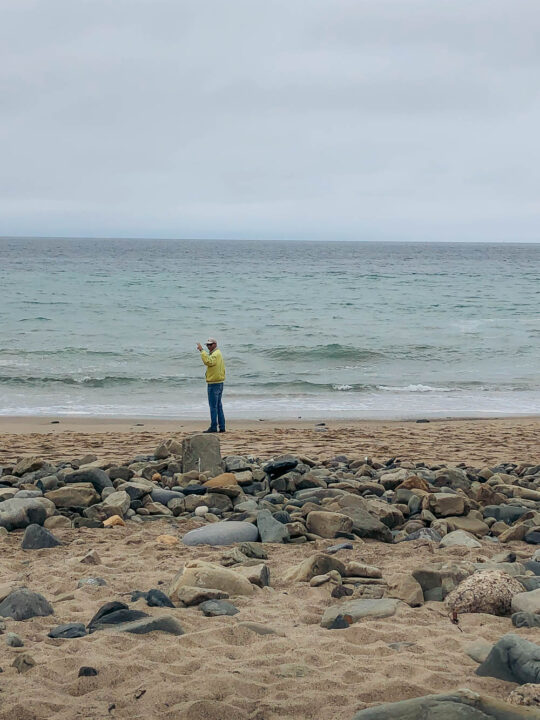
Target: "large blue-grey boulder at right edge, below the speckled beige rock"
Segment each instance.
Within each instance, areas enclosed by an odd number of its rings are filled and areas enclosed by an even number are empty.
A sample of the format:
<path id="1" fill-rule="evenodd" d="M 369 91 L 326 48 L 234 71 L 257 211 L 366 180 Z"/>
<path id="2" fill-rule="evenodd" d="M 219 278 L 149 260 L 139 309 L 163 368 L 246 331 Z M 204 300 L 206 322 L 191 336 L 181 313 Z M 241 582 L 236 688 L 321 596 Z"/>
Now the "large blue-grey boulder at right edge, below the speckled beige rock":
<path id="1" fill-rule="evenodd" d="M 513 633 L 503 635 L 476 674 L 520 685 L 540 683 L 540 646 Z"/>

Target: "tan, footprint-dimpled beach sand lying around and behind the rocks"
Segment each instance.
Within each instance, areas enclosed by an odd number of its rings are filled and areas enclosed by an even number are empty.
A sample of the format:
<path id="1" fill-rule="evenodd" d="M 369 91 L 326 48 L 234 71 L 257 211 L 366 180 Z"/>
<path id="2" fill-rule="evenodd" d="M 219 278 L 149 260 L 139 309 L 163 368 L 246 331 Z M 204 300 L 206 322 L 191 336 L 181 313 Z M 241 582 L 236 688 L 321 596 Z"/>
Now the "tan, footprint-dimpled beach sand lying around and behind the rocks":
<path id="1" fill-rule="evenodd" d="M 73 424 L 50 421 L 3 420 L 1 458 L 29 454 L 51 459 L 80 457 L 128 458 L 152 450 L 171 435 L 182 437 L 193 429 L 178 424 L 100 422 Z M 25 424 L 26 423 L 26 424 Z M 202 424 L 198 424 L 198 428 Z M 67 429 L 69 428 L 69 429 Z M 302 450 L 321 458 L 336 452 L 399 455 L 415 460 L 498 460 L 538 462 L 538 419 L 415 423 L 343 423 L 324 433 L 313 425 L 271 427 L 258 424 L 231 426 L 221 436 L 224 454 L 251 452 L 261 457 L 275 452 Z M 9 432 L 9 434 L 6 434 Z M 16 623 L 7 630 L 24 640 L 20 649 L 6 647 L 0 637 L 0 720 L 85 720 L 105 718 L 163 718 L 166 720 L 349 720 L 373 704 L 427 693 L 468 687 L 505 698 L 515 687 L 475 675 L 476 663 L 464 652 L 478 639 L 496 641 L 516 631 L 509 618 L 462 615 L 459 626 L 450 622 L 442 603 L 421 608 L 402 605 L 384 620 L 363 620 L 347 630 L 323 630 L 324 609 L 337 601 L 330 588 L 286 583 L 287 568 L 323 549 L 332 541 L 306 545 L 267 546 L 272 588 L 249 598 L 233 598 L 240 613 L 234 617 L 205 618 L 196 608 L 148 608 L 144 600 L 132 607 L 151 614 L 173 613 L 185 635 L 145 636 L 96 632 L 76 640 L 52 640 L 51 627 L 65 622 L 87 623 L 109 600 L 129 602 L 131 591 L 167 588 L 168 582 L 192 558 L 218 560 L 219 548 L 188 548 L 181 543 L 163 547 L 158 535 L 181 537 L 199 521 L 159 520 L 142 526 L 108 530 L 56 530 L 66 544 L 52 550 L 23 551 L 22 533 L 0 537 L 0 584 L 15 582 L 41 592 L 53 604 L 55 615 Z M 400 545 L 355 543 L 353 551 L 337 557 L 377 565 L 387 581 L 437 559 L 490 557 L 500 549 L 483 541 L 482 549 L 433 549 L 415 541 Z M 505 549 L 532 553 L 524 543 Z M 95 549 L 98 565 L 81 564 Z M 105 587 L 77 589 L 83 577 L 100 576 Z M 161 584 L 160 584 L 161 583 Z M 277 634 L 258 635 L 242 621 L 263 623 Z M 518 634 L 540 641 L 540 630 Z M 411 642 L 395 650 L 389 643 Z M 36 662 L 24 675 L 11 667 L 18 653 L 28 652 Z M 77 677 L 82 665 L 98 669 L 97 677 Z"/>

